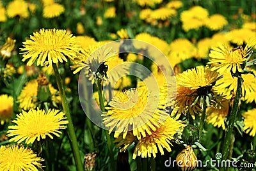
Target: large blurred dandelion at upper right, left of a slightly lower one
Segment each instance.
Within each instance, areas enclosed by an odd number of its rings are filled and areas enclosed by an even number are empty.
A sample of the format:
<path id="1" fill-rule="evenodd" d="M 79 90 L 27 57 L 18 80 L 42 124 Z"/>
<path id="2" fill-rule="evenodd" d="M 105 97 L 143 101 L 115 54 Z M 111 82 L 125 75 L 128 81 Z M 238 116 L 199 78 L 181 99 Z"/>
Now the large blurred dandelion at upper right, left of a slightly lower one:
<path id="1" fill-rule="evenodd" d="M 204 26 L 205 22 L 207 22 L 208 15 L 208 11 L 201 6 L 193 6 L 189 10 L 182 11 L 180 14 L 182 28 L 184 31 L 189 31 Z"/>

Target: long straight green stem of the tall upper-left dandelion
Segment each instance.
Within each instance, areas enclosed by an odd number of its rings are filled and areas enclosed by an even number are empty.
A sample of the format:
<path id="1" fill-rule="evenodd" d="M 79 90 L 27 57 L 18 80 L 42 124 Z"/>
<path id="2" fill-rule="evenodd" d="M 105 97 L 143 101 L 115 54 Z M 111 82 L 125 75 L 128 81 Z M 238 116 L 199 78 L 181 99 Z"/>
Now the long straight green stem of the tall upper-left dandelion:
<path id="1" fill-rule="evenodd" d="M 56 82 L 57 82 L 57 85 L 58 85 L 58 89 L 60 91 L 60 97 L 61 97 L 61 103 L 62 103 L 63 111 L 64 111 L 64 113 L 65 113 L 65 115 L 68 119 L 67 131 L 68 131 L 68 137 L 70 138 L 70 142 L 71 142 L 72 149 L 73 149 L 73 152 L 74 152 L 76 167 L 77 167 L 77 170 L 82 171 L 82 170 L 84 170 L 84 167 L 83 167 L 82 160 L 81 160 L 81 157 L 80 157 L 79 147 L 78 147 L 77 139 L 76 139 L 76 133 L 75 133 L 74 126 L 73 126 L 73 123 L 72 123 L 70 111 L 69 111 L 69 108 L 68 108 L 68 102 L 67 102 L 65 90 L 64 90 L 64 87 L 63 87 L 63 83 L 62 83 L 62 80 L 60 78 L 60 73 L 58 71 L 58 67 L 56 66 L 56 64 L 52 63 L 52 68 L 54 70 L 54 75 L 56 77 Z"/>

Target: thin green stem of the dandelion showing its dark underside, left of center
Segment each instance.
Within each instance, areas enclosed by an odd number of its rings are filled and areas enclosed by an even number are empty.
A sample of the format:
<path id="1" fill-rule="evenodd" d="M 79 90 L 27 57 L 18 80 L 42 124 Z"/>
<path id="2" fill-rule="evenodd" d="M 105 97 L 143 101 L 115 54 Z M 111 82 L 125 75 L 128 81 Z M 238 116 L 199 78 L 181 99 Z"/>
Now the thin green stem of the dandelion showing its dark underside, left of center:
<path id="1" fill-rule="evenodd" d="M 102 96 L 102 80 L 100 80 L 100 79 L 97 80 L 97 87 L 98 87 L 100 109 L 102 110 L 102 112 L 105 112 L 104 101 L 103 101 L 103 96 Z M 107 142 L 108 142 L 108 152 L 109 152 L 110 165 L 111 165 L 110 170 L 115 170 L 116 167 L 115 167 L 115 160 L 114 160 L 114 155 L 113 155 L 112 141 L 108 134 L 108 130 L 104 130 L 104 133 L 105 133 L 105 136 L 106 136 Z"/>

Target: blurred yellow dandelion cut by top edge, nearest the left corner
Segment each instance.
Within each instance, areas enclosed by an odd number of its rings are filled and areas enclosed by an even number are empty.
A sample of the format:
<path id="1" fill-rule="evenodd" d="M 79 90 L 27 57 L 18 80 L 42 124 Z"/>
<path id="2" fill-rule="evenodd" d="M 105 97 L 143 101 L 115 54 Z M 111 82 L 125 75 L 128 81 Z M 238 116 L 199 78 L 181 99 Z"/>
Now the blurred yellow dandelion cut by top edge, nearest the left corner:
<path id="1" fill-rule="evenodd" d="M 20 18 L 28 18 L 29 12 L 28 12 L 28 4 L 26 1 L 23 0 L 14 0 L 11 1 L 7 7 L 6 7 L 7 15 L 10 18 L 13 18 L 15 16 L 19 16 Z"/>

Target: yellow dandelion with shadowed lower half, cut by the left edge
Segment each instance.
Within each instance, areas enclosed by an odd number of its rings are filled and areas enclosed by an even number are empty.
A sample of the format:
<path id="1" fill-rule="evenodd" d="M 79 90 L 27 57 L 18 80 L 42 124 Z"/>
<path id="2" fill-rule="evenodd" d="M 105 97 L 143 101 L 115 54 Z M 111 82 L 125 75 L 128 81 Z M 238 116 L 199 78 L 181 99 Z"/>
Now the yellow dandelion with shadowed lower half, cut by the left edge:
<path id="1" fill-rule="evenodd" d="M 0 96 L 0 121 L 1 124 L 10 121 L 13 117 L 13 97 L 7 94 L 2 94 Z"/>

